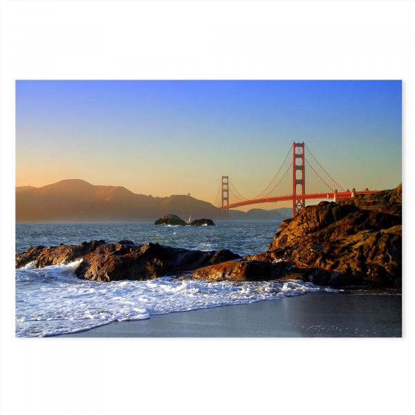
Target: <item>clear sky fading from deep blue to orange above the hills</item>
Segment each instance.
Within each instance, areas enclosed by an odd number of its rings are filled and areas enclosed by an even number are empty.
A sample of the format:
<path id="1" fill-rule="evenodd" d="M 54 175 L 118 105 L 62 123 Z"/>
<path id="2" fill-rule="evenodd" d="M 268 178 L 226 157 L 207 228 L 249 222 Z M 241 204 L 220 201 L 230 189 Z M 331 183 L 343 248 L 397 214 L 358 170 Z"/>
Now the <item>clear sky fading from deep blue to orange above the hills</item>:
<path id="1" fill-rule="evenodd" d="M 395 80 L 18 80 L 16 185 L 82 178 L 213 203 L 222 174 L 261 192 L 295 140 L 345 189 L 385 189 L 402 180 L 401 124 Z"/>

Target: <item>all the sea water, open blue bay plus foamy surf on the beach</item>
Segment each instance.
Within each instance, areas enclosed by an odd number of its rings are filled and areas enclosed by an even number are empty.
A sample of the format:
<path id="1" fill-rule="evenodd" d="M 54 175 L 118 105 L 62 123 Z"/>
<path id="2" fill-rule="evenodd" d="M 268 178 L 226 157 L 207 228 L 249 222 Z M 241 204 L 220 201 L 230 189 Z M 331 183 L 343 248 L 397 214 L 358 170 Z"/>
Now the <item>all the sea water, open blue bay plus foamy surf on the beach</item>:
<path id="1" fill-rule="evenodd" d="M 18 223 L 16 251 L 91 239 L 130 239 L 199 250 L 228 248 L 240 255 L 268 247 L 278 223 L 218 222 L 180 227 L 134 223 Z M 91 282 L 72 264 L 16 270 L 16 335 L 42 337 L 84 331 L 113 321 L 190 311 L 264 299 L 279 299 L 331 288 L 287 282 L 203 282 L 162 277 L 151 281 Z"/>

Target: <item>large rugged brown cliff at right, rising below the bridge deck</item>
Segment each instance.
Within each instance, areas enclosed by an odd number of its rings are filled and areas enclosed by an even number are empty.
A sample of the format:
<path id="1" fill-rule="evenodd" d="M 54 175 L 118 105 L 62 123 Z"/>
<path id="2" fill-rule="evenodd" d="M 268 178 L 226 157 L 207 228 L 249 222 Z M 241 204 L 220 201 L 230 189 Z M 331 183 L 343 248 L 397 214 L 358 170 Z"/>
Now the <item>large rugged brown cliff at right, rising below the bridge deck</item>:
<path id="1" fill-rule="evenodd" d="M 281 223 L 268 252 L 316 284 L 400 286 L 402 186 L 340 203 L 308 206 Z"/>

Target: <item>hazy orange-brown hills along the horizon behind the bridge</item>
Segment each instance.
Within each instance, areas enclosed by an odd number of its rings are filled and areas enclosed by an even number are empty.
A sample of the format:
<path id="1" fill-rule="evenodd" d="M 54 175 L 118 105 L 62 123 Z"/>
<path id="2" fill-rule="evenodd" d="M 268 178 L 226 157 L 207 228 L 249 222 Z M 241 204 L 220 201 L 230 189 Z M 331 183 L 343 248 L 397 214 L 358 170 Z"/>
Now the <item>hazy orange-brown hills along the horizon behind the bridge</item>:
<path id="1" fill-rule="evenodd" d="M 286 208 L 283 208 L 284 211 Z M 130 192 L 122 186 L 95 186 L 69 179 L 43 187 L 16 187 L 17 222 L 55 221 L 154 221 L 164 214 L 177 214 L 187 220 L 196 218 L 226 220 L 282 220 L 290 214 L 279 209 L 232 210 L 223 218 L 212 203 L 176 194 L 153 197 Z"/>

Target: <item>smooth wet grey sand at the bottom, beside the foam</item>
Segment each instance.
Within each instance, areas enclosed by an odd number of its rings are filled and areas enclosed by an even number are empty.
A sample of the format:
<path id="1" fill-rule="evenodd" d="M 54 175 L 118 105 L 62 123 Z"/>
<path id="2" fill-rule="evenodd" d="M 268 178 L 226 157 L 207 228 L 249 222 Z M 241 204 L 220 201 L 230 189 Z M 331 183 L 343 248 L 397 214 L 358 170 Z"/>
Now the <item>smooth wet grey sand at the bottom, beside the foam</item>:
<path id="1" fill-rule="evenodd" d="M 400 337 L 402 297 L 312 293 L 237 306 L 153 315 L 59 337 Z"/>

